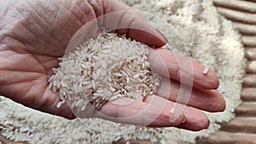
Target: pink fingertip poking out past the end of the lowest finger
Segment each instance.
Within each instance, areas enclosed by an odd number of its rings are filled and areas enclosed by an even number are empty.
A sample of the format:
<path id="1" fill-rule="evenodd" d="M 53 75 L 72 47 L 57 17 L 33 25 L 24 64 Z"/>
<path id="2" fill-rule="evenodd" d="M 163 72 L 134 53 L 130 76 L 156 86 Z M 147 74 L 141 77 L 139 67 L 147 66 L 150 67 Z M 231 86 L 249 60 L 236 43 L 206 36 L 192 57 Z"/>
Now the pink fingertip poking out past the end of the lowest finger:
<path id="1" fill-rule="evenodd" d="M 207 129 L 210 124 L 206 114 L 193 107 L 186 107 L 184 118 L 186 119 L 185 123 L 180 124 L 177 128 L 199 131 Z"/>

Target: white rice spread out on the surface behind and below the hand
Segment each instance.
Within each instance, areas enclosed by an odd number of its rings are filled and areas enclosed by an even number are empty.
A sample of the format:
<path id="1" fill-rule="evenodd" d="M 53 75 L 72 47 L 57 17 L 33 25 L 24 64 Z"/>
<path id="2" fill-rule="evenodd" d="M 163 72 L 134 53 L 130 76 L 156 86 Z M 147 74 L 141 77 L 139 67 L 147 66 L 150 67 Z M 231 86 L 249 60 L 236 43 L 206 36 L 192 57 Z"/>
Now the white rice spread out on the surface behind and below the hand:
<path id="1" fill-rule="evenodd" d="M 135 126 L 120 126 L 101 119 L 87 119 L 84 123 L 95 130 L 125 133 L 128 135 L 107 135 L 84 128 L 79 119 L 69 121 L 36 112 L 12 101 L 0 100 L 0 130 L 2 135 L 15 141 L 30 143 L 111 143 L 125 140 L 148 140 L 159 143 L 195 143 L 195 137 L 207 136 L 219 129 L 216 122 L 226 122 L 233 117 L 234 108 L 240 103 L 241 78 L 244 73 L 243 49 L 240 36 L 229 20 L 220 17 L 210 0 L 134 0 L 125 1 L 133 8 L 158 15 L 171 23 L 188 45 L 193 59 L 210 67 L 220 79 L 218 89 L 224 95 L 227 108 L 220 113 L 207 113 L 211 119 L 208 130 L 190 132 L 176 128 L 152 129 Z M 150 19 L 150 18 L 148 18 Z M 167 37 L 170 33 L 154 19 L 150 22 Z M 183 50 L 173 49 L 180 53 Z M 117 128 L 117 129 L 116 129 Z M 36 137 L 36 139 L 35 139 Z"/>

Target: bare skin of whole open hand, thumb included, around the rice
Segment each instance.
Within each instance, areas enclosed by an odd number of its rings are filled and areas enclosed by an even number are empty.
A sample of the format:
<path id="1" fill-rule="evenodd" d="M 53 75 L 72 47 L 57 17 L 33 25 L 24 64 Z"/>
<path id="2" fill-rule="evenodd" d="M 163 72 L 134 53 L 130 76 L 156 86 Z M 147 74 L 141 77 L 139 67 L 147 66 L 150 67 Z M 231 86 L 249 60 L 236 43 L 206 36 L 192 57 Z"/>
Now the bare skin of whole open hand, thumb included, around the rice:
<path id="1" fill-rule="evenodd" d="M 0 2 L 0 95 L 41 112 L 75 118 L 67 103 L 56 108 L 60 98 L 48 89 L 51 69 L 58 66 L 57 58 L 64 54 L 68 42 L 81 26 L 103 14 L 132 9 L 115 0 Z M 156 95 L 148 95 L 144 101 L 125 99 L 131 101 L 129 105 L 119 105 L 122 100 L 108 102 L 92 117 L 150 127 L 206 129 L 209 120 L 201 110 L 221 112 L 225 108 L 224 98 L 213 90 L 218 88 L 218 78 L 215 74 L 212 71 L 203 74 L 204 66 L 201 64 L 170 50 L 161 49 L 166 43 L 166 38 L 149 26 L 141 15 L 131 15 L 123 11 L 115 16 L 98 20 L 96 24 L 110 28 L 122 27 L 117 32 L 127 34 L 128 37 L 149 46 L 155 46 L 157 49 L 150 50 L 148 60 L 151 69 L 162 75 L 161 85 Z M 143 28 L 143 31 L 132 27 Z M 175 57 L 192 63 L 193 70 L 183 70 Z M 167 67 L 167 73 L 162 68 L 164 66 Z M 188 74 L 180 76 L 181 71 Z M 191 78 L 189 76 L 193 78 L 192 84 L 186 80 Z M 170 121 L 170 109 L 176 102 L 183 103 L 177 101 L 181 79 L 185 79 L 184 84 L 193 85 L 192 93 L 188 107 L 183 107 L 182 113 L 176 116 L 177 112 L 174 112 L 171 116 L 174 119 Z M 161 111 L 157 110 L 159 106 L 163 106 Z M 143 111 L 143 114 L 134 118 L 128 117 L 141 112 L 144 107 L 149 108 Z M 147 122 L 148 118 L 154 119 Z"/>

